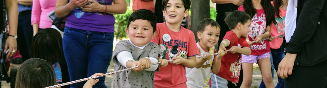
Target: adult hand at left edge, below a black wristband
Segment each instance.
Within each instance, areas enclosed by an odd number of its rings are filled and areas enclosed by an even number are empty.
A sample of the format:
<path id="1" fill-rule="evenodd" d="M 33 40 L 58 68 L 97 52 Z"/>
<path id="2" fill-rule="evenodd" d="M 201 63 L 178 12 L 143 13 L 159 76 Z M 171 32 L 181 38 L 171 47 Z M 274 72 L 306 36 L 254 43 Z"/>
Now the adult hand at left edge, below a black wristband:
<path id="1" fill-rule="evenodd" d="M 9 48 L 9 52 L 7 54 L 7 58 L 14 55 L 16 53 L 16 51 L 17 51 L 17 40 L 12 36 L 9 36 L 7 38 L 4 51 L 7 51 L 8 48 Z"/>

